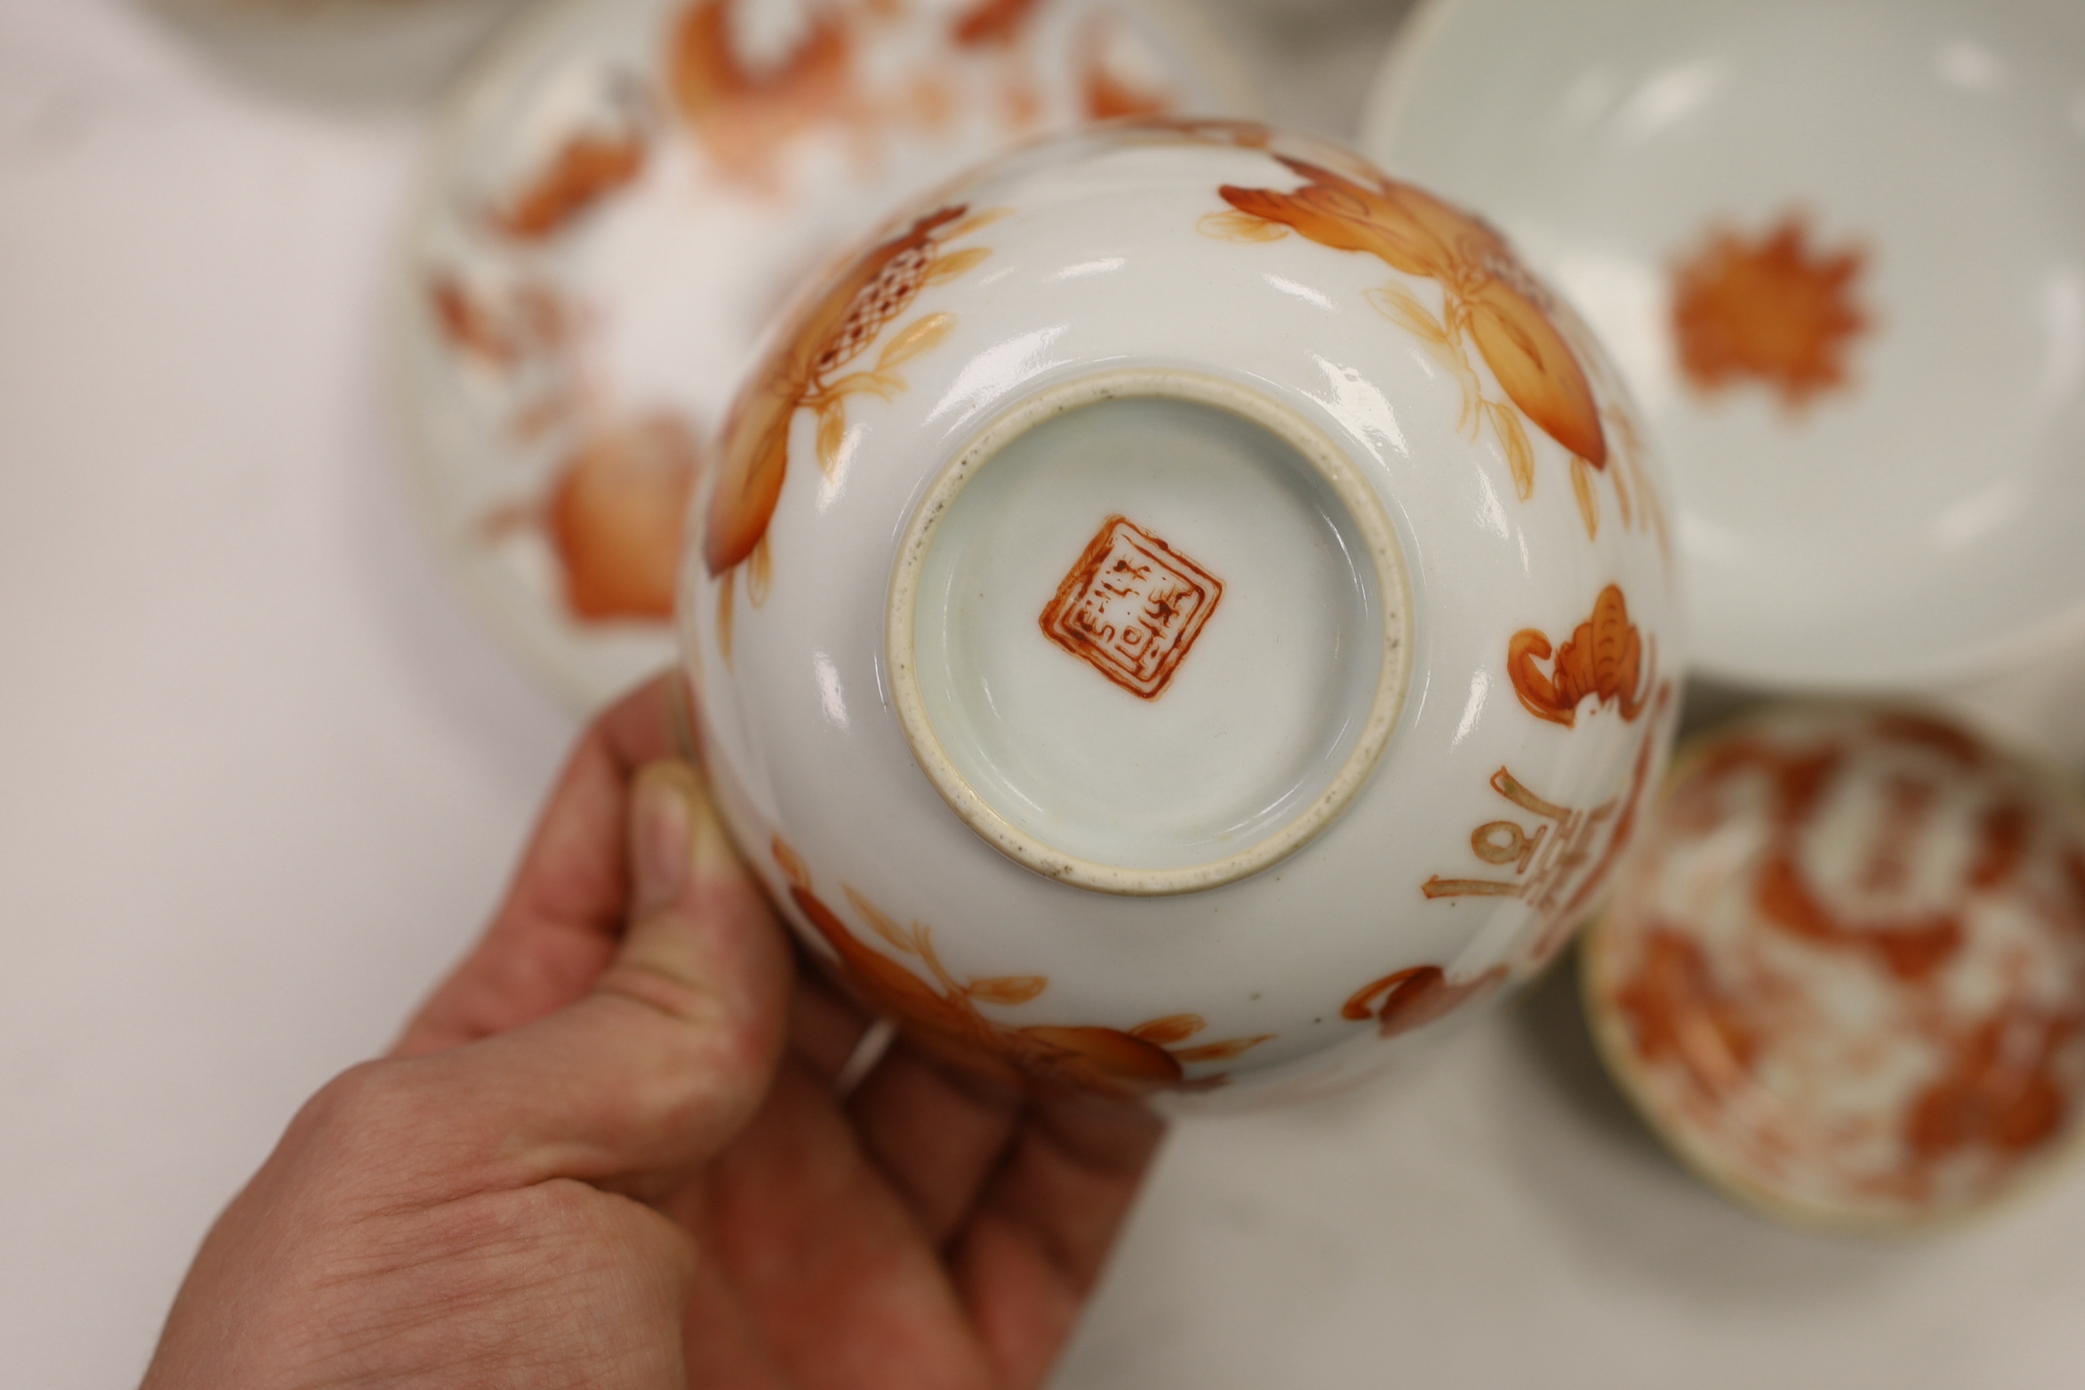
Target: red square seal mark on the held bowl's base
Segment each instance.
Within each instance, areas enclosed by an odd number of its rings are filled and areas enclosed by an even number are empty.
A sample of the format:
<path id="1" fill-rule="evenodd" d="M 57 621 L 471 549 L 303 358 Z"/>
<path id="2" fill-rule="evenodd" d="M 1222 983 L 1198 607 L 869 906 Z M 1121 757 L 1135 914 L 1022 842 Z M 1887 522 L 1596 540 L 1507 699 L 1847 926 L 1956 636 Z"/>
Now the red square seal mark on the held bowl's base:
<path id="1" fill-rule="evenodd" d="M 1216 613 L 1224 581 L 1126 517 L 1109 517 L 1042 609 L 1042 634 L 1145 700 Z"/>

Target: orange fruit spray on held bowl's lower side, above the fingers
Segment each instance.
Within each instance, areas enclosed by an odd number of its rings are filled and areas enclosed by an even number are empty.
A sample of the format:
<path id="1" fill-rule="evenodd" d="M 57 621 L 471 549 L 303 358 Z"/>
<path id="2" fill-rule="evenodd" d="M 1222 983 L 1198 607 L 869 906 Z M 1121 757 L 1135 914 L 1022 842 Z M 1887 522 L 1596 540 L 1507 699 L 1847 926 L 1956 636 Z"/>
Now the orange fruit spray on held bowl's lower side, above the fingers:
<path id="1" fill-rule="evenodd" d="M 995 975 L 957 979 L 940 963 L 928 927 L 901 925 L 876 911 L 867 898 L 844 888 L 849 904 L 869 923 L 882 942 L 926 965 L 932 979 L 922 979 L 894 957 L 869 946 L 849 929 L 817 894 L 803 859 L 774 840 L 776 865 L 790 886 L 790 900 L 832 946 L 847 977 L 876 1009 L 892 1015 L 907 1038 L 934 1057 L 980 1071 L 1007 1086 L 1028 1086 L 1049 1092 L 1097 1090 L 1115 1096 L 1143 1096 L 1155 1090 L 1207 1090 L 1222 1086 L 1224 1075 L 1186 1079 L 1195 1063 L 1222 1063 L 1270 1042 L 1274 1034 L 1228 1038 L 1197 1046 L 1180 1046 L 1207 1023 L 1193 1013 L 1120 1027 L 1065 1027 L 995 1023 L 978 1004 L 1026 1004 L 1049 988 L 1047 975 Z"/>

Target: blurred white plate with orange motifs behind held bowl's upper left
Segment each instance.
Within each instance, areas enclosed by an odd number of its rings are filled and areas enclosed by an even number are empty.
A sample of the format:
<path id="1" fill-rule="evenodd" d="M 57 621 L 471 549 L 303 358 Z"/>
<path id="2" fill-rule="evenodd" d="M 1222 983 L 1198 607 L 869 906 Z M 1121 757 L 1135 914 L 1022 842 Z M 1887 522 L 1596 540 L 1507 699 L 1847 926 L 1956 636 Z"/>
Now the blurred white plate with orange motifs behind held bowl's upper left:
<path id="1" fill-rule="evenodd" d="M 592 706 L 673 659 L 688 490 L 753 342 L 1007 142 L 1238 83 L 1149 0 L 555 0 L 461 83 L 398 281 L 411 481 L 511 646 Z"/>

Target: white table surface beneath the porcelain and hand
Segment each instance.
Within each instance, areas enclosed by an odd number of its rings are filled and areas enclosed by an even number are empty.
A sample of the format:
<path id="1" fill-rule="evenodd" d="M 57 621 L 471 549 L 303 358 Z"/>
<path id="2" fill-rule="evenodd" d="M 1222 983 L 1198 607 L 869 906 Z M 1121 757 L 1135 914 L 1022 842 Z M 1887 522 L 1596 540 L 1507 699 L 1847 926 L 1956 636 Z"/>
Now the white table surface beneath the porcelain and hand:
<path id="1" fill-rule="evenodd" d="M 498 8 L 0 0 L 0 1390 L 136 1380 L 573 734 L 413 531 L 377 352 L 430 96 Z M 1343 133 L 1397 8 L 1216 19 Z M 2081 673 L 1956 700 L 2077 763 Z M 1551 982 L 1389 1086 L 1182 1123 L 1059 1384 L 2079 1386 L 2085 1177 L 1931 1244 L 1774 1230 Z"/>

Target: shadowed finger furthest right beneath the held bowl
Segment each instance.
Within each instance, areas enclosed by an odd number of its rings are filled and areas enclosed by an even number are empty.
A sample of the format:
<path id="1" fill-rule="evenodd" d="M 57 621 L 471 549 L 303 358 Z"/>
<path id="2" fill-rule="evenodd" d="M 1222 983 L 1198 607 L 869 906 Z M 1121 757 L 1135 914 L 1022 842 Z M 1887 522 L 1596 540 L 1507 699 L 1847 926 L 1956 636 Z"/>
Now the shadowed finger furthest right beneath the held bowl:
<path id="1" fill-rule="evenodd" d="M 1163 1136 L 1149 1111 L 1118 1102 L 1028 1113 L 951 1257 L 1001 1384 L 1049 1375 Z"/>

